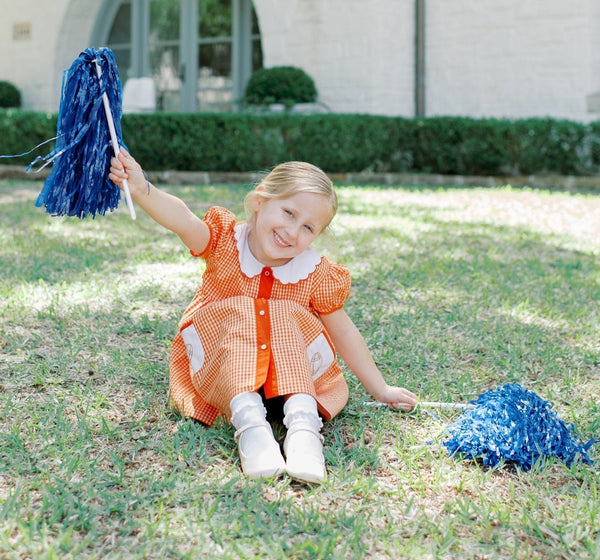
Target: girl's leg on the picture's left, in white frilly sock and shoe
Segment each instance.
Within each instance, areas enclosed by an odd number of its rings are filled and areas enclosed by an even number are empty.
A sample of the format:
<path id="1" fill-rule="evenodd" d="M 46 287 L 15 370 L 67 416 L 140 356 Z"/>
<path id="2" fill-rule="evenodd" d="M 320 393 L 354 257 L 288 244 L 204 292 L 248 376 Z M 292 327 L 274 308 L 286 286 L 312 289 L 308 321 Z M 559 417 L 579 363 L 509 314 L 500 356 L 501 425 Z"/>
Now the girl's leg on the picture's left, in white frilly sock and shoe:
<path id="1" fill-rule="evenodd" d="M 285 461 L 266 420 L 266 409 L 258 393 L 241 393 L 231 400 L 231 423 L 242 470 L 251 478 L 270 478 L 283 473 Z"/>

